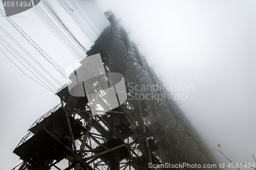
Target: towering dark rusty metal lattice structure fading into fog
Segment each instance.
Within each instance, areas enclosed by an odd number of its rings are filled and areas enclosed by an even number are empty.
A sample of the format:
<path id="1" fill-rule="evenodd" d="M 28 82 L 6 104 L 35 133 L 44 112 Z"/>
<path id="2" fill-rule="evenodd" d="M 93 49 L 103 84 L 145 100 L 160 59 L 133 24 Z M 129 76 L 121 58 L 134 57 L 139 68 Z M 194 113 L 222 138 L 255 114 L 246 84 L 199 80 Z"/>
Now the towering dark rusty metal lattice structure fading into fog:
<path id="1" fill-rule="evenodd" d="M 24 162 L 13 169 L 60 169 L 57 163 L 63 159 L 69 161 L 65 170 L 154 169 L 148 167 L 149 163 L 216 164 L 177 103 L 154 97 L 171 93 L 161 88 L 163 83 L 114 14 L 107 11 L 104 15 L 111 26 L 87 55 L 100 53 L 106 72 L 123 75 L 126 102 L 92 116 L 87 98 L 71 96 L 68 84 L 62 86 L 56 93 L 61 103 L 37 119 L 15 148 L 14 153 Z M 153 88 L 139 90 L 136 85 Z M 147 98 L 135 97 L 141 94 Z"/>

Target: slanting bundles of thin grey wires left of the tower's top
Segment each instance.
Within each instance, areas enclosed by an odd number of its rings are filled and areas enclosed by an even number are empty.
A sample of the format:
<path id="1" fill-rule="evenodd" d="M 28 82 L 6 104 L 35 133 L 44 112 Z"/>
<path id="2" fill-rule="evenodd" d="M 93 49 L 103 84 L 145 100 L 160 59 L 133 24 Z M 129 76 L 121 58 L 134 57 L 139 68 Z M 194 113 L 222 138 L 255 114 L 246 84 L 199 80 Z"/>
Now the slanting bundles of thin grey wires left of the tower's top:
<path id="1" fill-rule="evenodd" d="M 27 1 L 27 0 L 24 0 Z M 88 37 L 91 42 L 94 42 L 103 29 L 109 25 L 108 20 L 105 19 L 103 12 L 101 12 L 95 1 L 73 1 L 73 0 L 58 0 L 59 4 L 68 12 L 70 17 L 75 21 L 81 31 Z M 51 1 L 41 0 L 40 3 L 33 8 L 33 12 L 38 18 L 47 26 L 52 34 L 67 48 L 67 50 L 77 59 L 83 59 L 86 56 L 87 49 L 78 41 L 71 29 L 67 26 L 65 21 L 60 17 L 54 9 Z M 59 74 L 68 79 L 69 75 L 61 66 L 53 60 L 38 44 L 31 39 L 17 24 L 10 18 L 6 17 L 1 10 L 0 13 L 15 28 L 15 30 L 22 35 L 24 39 L 36 50 L 40 56 L 50 63 Z M 11 34 L 9 34 L 2 26 L 0 32 L 5 34 L 0 36 L 0 50 L 2 53 L 15 64 L 26 76 L 34 80 L 36 83 L 55 93 L 61 86 L 59 80 L 47 69 L 45 64 L 38 61 L 31 51 L 28 51 L 19 43 Z M 6 49 L 4 51 L 2 46 Z M 14 62 L 14 60 L 16 60 Z"/>

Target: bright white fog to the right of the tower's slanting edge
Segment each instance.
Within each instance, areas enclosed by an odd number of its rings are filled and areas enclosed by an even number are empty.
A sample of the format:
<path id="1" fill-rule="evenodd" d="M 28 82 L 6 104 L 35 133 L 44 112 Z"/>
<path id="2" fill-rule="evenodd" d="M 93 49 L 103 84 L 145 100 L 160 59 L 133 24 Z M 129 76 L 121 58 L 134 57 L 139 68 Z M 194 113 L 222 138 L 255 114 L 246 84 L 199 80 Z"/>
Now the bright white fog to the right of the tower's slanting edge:
<path id="1" fill-rule="evenodd" d="M 194 85 L 176 101 L 209 148 L 220 143 L 233 162 L 253 163 L 255 1 L 99 2 L 121 18 L 164 84 Z"/>

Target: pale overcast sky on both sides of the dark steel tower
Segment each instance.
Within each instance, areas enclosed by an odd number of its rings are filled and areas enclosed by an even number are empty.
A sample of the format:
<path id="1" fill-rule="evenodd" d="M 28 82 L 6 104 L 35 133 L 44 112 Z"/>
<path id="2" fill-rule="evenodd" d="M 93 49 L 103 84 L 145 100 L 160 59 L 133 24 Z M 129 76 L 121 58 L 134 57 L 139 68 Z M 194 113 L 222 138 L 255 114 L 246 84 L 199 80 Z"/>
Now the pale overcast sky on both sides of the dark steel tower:
<path id="1" fill-rule="evenodd" d="M 140 52 L 147 55 L 164 84 L 194 85 L 194 90 L 179 91 L 187 99 L 177 102 L 209 148 L 218 149 L 220 143 L 233 162 L 253 163 L 256 1 L 97 2 L 103 11 L 112 10 L 121 18 L 121 25 L 131 31 L 130 38 L 139 44 Z M 31 10 L 16 16 L 24 16 L 12 19 L 63 68 L 75 61 Z M 64 13 L 62 16 L 68 19 Z M 0 17 L 0 26 L 18 38 L 4 17 Z M 84 46 L 90 48 L 91 42 L 81 37 Z M 0 56 L 0 170 L 4 170 L 20 163 L 12 151 L 32 123 L 59 99 L 26 77 L 2 52 Z M 218 162 L 228 162 L 217 151 L 212 152 Z"/>

